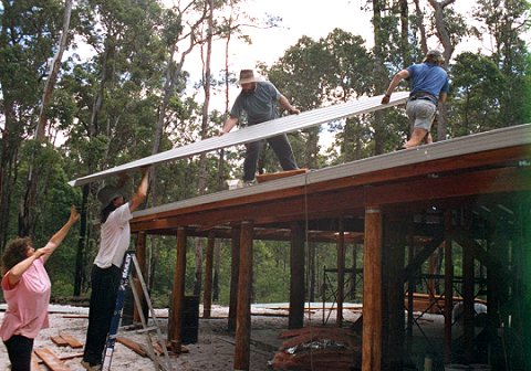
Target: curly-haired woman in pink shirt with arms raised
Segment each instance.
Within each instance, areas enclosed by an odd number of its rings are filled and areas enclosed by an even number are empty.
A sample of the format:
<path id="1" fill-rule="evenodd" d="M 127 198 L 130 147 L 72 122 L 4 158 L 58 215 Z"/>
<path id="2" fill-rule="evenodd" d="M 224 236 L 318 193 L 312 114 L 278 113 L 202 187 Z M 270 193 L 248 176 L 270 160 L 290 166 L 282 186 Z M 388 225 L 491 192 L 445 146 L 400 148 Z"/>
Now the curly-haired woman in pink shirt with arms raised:
<path id="1" fill-rule="evenodd" d="M 80 214 L 72 206 L 69 221 L 44 247 L 34 250 L 31 239 L 17 237 L 8 243 L 3 253 L 2 290 L 8 310 L 0 327 L 0 337 L 8 348 L 12 371 L 31 370 L 33 339 L 41 328 L 49 326 L 51 283 L 44 263 L 79 219 Z"/>

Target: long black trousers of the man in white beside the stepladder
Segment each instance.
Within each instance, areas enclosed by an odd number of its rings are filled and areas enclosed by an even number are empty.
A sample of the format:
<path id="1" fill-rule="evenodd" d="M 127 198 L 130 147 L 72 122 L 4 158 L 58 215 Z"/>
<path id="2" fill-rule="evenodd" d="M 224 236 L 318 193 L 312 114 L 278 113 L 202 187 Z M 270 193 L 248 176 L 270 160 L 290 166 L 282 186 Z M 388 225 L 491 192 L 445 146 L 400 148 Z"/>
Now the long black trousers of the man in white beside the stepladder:
<path id="1" fill-rule="evenodd" d="M 85 350 L 83 352 L 83 360 L 91 364 L 102 363 L 103 350 L 116 306 L 119 277 L 121 271 L 114 265 L 105 269 L 96 265 L 92 267 L 88 329 L 86 330 Z"/>

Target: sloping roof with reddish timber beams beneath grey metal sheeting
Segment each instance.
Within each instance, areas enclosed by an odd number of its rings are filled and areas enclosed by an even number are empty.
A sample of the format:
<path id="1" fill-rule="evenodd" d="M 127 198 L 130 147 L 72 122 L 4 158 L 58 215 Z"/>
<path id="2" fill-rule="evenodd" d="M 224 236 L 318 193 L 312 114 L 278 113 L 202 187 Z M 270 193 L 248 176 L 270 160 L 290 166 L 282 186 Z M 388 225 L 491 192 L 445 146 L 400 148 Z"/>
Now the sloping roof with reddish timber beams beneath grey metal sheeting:
<path id="1" fill-rule="evenodd" d="M 209 230 L 244 220 L 281 227 L 301 220 L 360 218 L 368 204 L 414 208 L 529 192 L 530 160 L 528 124 L 137 211 L 131 225 L 150 233 L 188 225 Z"/>

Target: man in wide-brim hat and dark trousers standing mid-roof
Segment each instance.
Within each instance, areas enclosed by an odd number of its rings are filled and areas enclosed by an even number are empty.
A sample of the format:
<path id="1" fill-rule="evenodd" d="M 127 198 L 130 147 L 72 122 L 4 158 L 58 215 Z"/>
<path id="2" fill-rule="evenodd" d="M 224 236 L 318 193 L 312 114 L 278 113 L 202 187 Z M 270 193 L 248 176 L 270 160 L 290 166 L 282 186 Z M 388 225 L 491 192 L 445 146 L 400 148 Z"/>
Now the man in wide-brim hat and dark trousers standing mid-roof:
<path id="1" fill-rule="evenodd" d="M 241 92 L 232 105 L 230 116 L 225 121 L 221 135 L 229 132 L 243 113 L 247 113 L 248 125 L 257 125 L 279 117 L 277 105 L 280 105 L 289 114 L 300 114 L 288 98 L 283 96 L 270 82 L 262 81 L 254 75 L 252 70 L 241 70 L 238 84 Z M 285 134 L 267 139 L 277 155 L 282 169 L 298 169 L 295 157 Z M 243 161 L 243 183 L 250 184 L 254 180 L 258 157 L 263 146 L 263 140 L 247 144 L 246 160 Z"/>

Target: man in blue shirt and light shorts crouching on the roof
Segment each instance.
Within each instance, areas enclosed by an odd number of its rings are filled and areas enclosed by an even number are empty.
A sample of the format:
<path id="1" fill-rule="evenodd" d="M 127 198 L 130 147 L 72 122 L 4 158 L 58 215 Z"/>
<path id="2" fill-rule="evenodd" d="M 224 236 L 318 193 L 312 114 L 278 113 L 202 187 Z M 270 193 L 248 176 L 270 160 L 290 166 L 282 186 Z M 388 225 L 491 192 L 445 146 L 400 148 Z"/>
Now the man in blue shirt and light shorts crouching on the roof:
<path id="1" fill-rule="evenodd" d="M 426 54 L 423 63 L 413 64 L 406 70 L 399 71 L 391 81 L 389 87 L 382 104 L 389 103 L 393 91 L 400 81 L 410 82 L 410 95 L 406 104 L 406 114 L 412 125 L 412 136 L 402 149 L 416 147 L 423 140 L 431 142 L 431 124 L 437 112 L 437 105 L 445 103 L 449 89 L 448 74 L 442 68 L 445 57 L 437 50 Z"/>

